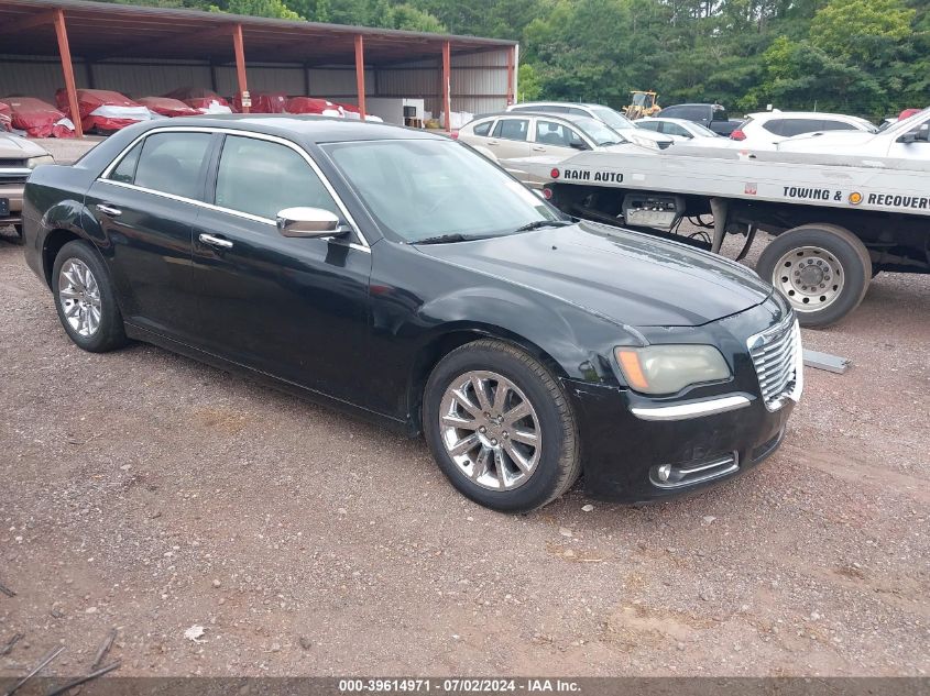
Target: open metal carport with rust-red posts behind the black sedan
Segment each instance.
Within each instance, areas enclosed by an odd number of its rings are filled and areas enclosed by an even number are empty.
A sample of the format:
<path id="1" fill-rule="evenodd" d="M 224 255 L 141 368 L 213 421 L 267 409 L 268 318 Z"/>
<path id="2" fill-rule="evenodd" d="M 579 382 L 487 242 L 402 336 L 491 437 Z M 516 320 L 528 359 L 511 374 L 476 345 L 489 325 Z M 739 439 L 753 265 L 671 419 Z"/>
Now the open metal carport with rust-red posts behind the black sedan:
<path id="1" fill-rule="evenodd" d="M 338 96 L 354 98 L 363 115 L 366 96 L 425 97 L 445 113 L 448 130 L 453 100 L 460 110 L 474 112 L 513 102 L 517 51 L 515 42 L 503 40 L 197 10 L 85 0 L 0 2 L 0 96 L 15 88 L 29 91 L 23 87 L 30 84 L 29 75 L 42 74 L 36 66 L 47 67 L 54 59 L 79 134 L 78 87 L 120 90 L 145 70 L 161 68 L 166 74 L 177 66 L 196 67 L 206 84 L 194 86 L 215 90 L 223 71 L 234 67 L 240 93 L 249 91 L 250 73 L 296 85 L 299 70 L 302 89 L 295 93 L 341 90 Z M 17 79 L 17 70 L 29 75 Z M 288 73 L 272 76 L 273 70 Z M 354 71 L 354 93 L 338 73 L 347 70 Z M 53 79 L 47 70 L 44 75 L 45 82 Z M 456 84 L 461 87 L 453 89 Z"/>

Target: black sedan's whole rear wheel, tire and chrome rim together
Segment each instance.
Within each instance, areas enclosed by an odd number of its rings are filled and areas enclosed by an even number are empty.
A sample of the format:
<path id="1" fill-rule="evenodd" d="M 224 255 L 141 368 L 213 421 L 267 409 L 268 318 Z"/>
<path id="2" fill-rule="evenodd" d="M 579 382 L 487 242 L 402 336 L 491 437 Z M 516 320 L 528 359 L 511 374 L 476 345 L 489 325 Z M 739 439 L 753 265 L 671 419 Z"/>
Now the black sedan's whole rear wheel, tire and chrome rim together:
<path id="1" fill-rule="evenodd" d="M 55 256 L 52 292 L 62 327 L 78 347 L 105 353 L 125 345 L 110 274 L 87 242 L 68 242 Z"/>

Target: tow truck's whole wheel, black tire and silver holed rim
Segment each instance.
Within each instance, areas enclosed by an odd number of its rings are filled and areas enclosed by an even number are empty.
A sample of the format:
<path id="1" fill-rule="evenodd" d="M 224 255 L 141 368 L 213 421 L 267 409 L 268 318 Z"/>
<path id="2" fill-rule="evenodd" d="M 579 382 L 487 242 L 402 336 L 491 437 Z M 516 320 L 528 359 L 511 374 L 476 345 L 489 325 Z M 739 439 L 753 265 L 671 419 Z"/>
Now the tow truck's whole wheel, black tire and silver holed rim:
<path id="1" fill-rule="evenodd" d="M 759 255 L 756 270 L 788 299 L 802 327 L 828 327 L 862 302 L 872 259 L 849 230 L 814 223 L 779 234 Z"/>

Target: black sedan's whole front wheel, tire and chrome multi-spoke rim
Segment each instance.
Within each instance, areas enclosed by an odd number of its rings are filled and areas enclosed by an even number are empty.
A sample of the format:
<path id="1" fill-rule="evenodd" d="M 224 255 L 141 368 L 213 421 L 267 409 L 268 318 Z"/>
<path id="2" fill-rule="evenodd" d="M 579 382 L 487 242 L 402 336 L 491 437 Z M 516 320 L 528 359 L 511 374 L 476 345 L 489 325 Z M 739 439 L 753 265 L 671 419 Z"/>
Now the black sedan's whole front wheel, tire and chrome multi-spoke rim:
<path id="1" fill-rule="evenodd" d="M 581 472 L 568 396 L 539 361 L 502 341 L 468 343 L 436 365 L 423 428 L 451 484 L 494 510 L 540 508 Z"/>

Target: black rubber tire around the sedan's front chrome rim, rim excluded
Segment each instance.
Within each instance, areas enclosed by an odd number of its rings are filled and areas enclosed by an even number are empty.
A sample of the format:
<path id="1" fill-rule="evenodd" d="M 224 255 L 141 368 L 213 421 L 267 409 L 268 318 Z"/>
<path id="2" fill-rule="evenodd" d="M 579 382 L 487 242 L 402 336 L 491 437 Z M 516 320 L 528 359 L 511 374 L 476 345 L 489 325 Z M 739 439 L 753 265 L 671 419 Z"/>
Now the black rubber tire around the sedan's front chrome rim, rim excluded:
<path id="1" fill-rule="evenodd" d="M 439 418 L 446 389 L 472 371 L 492 371 L 525 394 L 536 411 L 541 453 L 533 473 L 519 487 L 491 490 L 469 478 L 442 441 Z M 480 340 L 448 355 L 433 369 L 424 391 L 423 429 L 439 468 L 466 497 L 502 512 L 528 512 L 566 493 L 581 473 L 578 430 L 568 396 L 539 361 L 503 341 Z M 506 433 L 504 433 L 506 435 Z"/>

